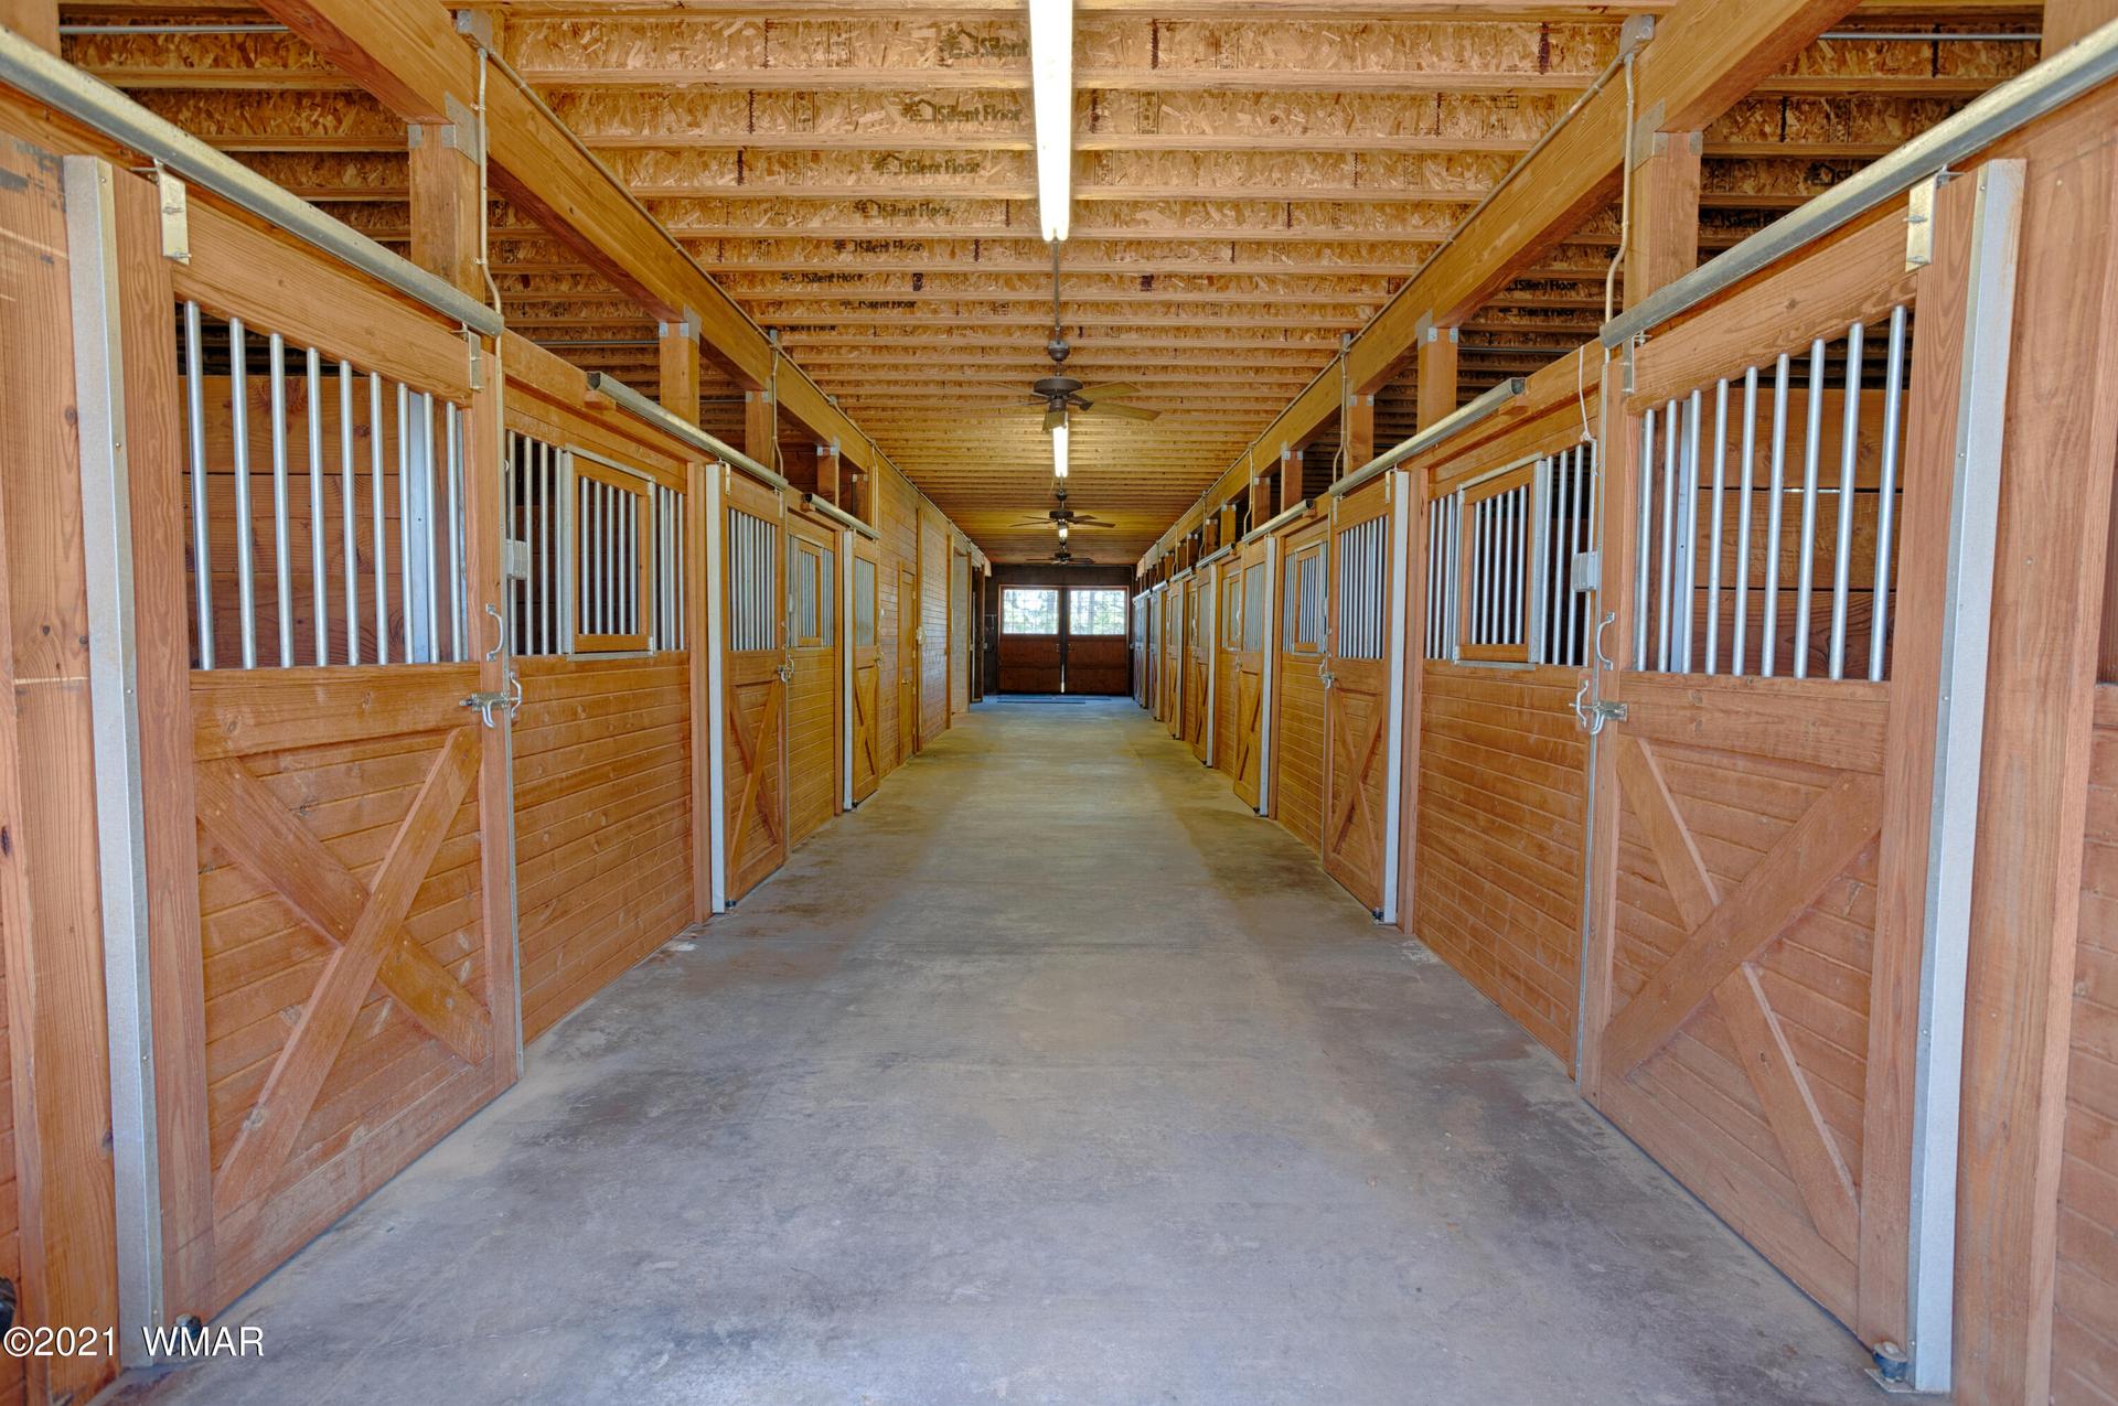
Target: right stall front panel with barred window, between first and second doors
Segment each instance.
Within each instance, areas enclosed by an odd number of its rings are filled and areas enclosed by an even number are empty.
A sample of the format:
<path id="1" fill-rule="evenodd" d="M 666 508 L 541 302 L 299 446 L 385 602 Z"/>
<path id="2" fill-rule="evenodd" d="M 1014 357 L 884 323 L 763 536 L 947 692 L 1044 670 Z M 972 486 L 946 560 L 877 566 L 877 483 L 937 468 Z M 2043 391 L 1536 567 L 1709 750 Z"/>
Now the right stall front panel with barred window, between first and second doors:
<path id="1" fill-rule="evenodd" d="M 1591 387 L 1593 396 L 1593 387 Z M 1428 495 L 1425 570 L 1415 661 L 1411 898 L 1404 930 L 1464 974 L 1572 1067 L 1580 991 L 1586 735 L 1574 718 L 1588 659 L 1588 601 L 1569 589 L 1572 557 L 1591 544 L 1591 451 L 1574 358 L 1538 373 L 1508 411 L 1408 459 Z M 1506 485 L 1529 485 L 1542 515 L 1510 561 L 1519 593 L 1506 644 L 1459 648 L 1466 597 L 1464 523 Z M 1415 491 L 1421 491 L 1415 489 Z M 1540 629 L 1531 599 L 1544 582 Z M 1472 654 L 1483 652 L 1485 661 Z"/>

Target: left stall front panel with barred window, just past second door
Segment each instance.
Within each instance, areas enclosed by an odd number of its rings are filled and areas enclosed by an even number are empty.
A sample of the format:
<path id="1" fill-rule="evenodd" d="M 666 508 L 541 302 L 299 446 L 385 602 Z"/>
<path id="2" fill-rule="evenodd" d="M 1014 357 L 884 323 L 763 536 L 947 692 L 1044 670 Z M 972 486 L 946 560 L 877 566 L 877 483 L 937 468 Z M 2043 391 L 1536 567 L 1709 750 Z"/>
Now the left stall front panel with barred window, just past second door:
<path id="1" fill-rule="evenodd" d="M 839 534 L 788 515 L 788 845 L 837 811 L 839 796 Z"/>

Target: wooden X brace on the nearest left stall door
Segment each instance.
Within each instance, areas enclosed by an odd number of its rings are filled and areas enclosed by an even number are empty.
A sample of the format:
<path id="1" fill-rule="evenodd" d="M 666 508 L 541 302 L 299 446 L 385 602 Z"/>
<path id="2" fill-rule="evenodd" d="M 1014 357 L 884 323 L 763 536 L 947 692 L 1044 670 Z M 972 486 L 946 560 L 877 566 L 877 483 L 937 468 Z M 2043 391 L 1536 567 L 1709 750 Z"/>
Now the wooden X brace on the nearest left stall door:
<path id="1" fill-rule="evenodd" d="M 271 1190 L 377 978 L 464 1061 L 485 1059 L 491 1046 L 485 1006 L 405 927 L 434 853 L 479 775 L 479 754 L 472 728 L 449 733 L 390 839 L 373 887 L 362 885 L 239 760 L 197 767 L 199 822 L 214 843 L 335 944 L 256 1107 L 214 1175 L 216 1215 Z"/>

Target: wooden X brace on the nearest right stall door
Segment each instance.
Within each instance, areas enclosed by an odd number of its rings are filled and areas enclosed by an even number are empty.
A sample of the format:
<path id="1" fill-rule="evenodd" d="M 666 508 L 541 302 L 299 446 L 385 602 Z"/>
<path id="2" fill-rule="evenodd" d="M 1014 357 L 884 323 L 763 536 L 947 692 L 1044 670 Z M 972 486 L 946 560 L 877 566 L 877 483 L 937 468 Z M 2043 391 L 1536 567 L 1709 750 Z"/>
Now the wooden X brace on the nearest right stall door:
<path id="1" fill-rule="evenodd" d="M 1713 1002 L 1788 1158 L 1809 1220 L 1841 1254 L 1857 1256 L 1853 1175 L 1766 999 L 1754 957 L 1881 832 L 1883 783 L 1872 775 L 1843 775 L 1826 786 L 1743 883 L 1722 896 L 1654 752 L 1627 735 L 1616 737 L 1616 750 L 1618 790 L 1639 819 L 1686 936 L 1610 1023 L 1608 1069 L 1625 1078 L 1663 1048 L 1701 1004 Z"/>

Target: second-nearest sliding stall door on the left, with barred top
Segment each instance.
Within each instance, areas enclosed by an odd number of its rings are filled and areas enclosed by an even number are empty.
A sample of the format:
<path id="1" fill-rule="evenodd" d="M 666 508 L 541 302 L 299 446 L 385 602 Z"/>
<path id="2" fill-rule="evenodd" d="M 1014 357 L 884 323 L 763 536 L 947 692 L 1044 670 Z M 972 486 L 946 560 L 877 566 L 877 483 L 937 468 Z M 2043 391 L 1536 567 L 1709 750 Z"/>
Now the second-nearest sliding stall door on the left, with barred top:
<path id="1" fill-rule="evenodd" d="M 779 493 L 726 472 L 722 648 L 722 866 L 737 900 L 788 858 L 786 705 L 794 675 L 786 627 Z"/>

